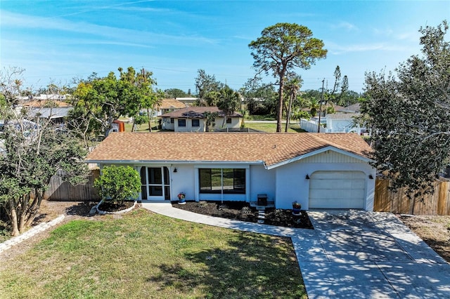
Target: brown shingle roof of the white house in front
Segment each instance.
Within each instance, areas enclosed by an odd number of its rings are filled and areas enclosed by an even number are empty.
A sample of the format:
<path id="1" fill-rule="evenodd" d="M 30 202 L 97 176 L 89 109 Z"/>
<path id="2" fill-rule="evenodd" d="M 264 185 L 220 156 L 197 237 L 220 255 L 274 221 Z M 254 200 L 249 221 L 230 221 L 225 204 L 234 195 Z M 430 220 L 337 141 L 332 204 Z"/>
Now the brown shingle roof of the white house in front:
<path id="1" fill-rule="evenodd" d="M 359 135 L 349 133 L 111 133 L 86 162 L 226 161 L 271 166 L 329 146 L 365 158 L 371 150 Z"/>

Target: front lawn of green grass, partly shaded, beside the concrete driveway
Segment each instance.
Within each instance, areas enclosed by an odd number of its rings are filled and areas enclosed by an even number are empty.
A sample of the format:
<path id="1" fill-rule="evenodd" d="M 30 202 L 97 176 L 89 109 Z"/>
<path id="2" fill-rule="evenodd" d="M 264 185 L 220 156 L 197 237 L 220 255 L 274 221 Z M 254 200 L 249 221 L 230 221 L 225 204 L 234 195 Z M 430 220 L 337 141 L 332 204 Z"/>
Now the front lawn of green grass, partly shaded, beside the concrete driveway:
<path id="1" fill-rule="evenodd" d="M 307 298 L 290 239 L 137 210 L 73 220 L 0 264 L 0 298 Z"/>

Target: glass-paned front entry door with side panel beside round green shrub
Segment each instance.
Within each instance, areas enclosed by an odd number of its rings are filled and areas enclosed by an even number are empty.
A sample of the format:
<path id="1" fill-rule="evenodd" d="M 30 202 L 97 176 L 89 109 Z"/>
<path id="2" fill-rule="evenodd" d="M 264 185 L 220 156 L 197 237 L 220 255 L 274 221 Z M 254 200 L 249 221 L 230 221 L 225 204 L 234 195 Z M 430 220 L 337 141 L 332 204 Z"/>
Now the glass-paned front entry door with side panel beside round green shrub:
<path id="1" fill-rule="evenodd" d="M 170 200 L 169 168 L 141 167 L 141 200 Z"/>

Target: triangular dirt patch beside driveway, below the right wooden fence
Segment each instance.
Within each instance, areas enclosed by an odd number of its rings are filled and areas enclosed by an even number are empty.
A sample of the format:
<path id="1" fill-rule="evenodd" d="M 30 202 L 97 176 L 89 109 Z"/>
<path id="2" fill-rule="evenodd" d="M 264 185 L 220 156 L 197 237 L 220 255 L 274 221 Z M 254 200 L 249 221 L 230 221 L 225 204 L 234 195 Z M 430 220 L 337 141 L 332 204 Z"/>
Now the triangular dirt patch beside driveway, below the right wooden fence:
<path id="1" fill-rule="evenodd" d="M 450 216 L 398 215 L 420 239 L 450 263 Z"/>

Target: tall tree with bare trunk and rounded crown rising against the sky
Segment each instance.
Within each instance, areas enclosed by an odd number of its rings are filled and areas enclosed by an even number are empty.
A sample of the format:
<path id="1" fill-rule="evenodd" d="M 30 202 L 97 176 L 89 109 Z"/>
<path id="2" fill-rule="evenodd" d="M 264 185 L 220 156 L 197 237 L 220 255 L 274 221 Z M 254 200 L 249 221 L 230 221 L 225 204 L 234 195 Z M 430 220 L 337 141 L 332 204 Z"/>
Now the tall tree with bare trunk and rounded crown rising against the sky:
<path id="1" fill-rule="evenodd" d="M 261 37 L 248 45 L 255 59 L 253 67 L 259 72 L 273 74 L 278 79 L 276 131 L 281 132 L 283 119 L 283 90 L 285 76 L 295 67 L 309 69 L 317 59 L 326 58 L 323 41 L 312 37 L 309 28 L 290 23 L 277 23 L 266 27 Z"/>

